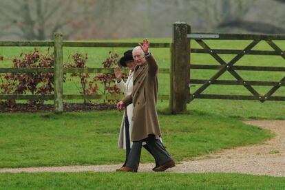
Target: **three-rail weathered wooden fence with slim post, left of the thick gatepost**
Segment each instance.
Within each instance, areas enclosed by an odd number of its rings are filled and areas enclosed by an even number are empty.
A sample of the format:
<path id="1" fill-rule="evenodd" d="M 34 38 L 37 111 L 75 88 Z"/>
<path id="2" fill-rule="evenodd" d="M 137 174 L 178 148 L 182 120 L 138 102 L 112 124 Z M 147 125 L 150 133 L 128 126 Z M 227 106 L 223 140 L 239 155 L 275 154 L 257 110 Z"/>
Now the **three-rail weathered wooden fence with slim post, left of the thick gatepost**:
<path id="1" fill-rule="evenodd" d="M 3 47 L 54 47 L 54 67 L 52 68 L 0 68 L 0 73 L 33 73 L 45 72 L 54 73 L 54 94 L 50 95 L 35 95 L 35 94 L 0 94 L 0 99 L 6 100 L 54 100 L 54 112 L 63 112 L 63 100 L 72 99 L 118 99 L 123 98 L 123 95 L 110 94 L 63 94 L 63 74 L 66 73 L 103 73 L 114 72 L 113 69 L 105 68 L 63 68 L 63 47 L 134 47 L 138 43 L 103 43 L 103 42 L 78 42 L 78 41 L 63 41 L 62 34 L 54 34 L 54 41 L 0 41 L 0 46 Z M 151 43 L 154 48 L 169 48 L 169 43 Z M 159 69 L 159 73 L 169 74 L 169 69 Z M 158 99 L 169 100 L 169 95 L 159 94 Z"/>

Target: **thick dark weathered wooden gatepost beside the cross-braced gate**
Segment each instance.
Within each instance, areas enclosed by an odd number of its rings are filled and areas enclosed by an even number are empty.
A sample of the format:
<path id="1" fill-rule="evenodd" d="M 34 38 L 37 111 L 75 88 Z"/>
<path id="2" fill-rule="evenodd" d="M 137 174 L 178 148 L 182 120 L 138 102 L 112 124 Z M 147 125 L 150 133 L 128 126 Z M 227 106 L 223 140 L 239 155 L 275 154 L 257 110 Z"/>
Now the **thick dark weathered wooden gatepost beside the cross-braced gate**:
<path id="1" fill-rule="evenodd" d="M 171 44 L 170 67 L 170 101 L 169 107 L 172 114 L 187 112 L 189 100 L 190 81 L 190 40 L 187 34 L 191 32 L 187 23 L 173 23 L 173 43 Z"/>

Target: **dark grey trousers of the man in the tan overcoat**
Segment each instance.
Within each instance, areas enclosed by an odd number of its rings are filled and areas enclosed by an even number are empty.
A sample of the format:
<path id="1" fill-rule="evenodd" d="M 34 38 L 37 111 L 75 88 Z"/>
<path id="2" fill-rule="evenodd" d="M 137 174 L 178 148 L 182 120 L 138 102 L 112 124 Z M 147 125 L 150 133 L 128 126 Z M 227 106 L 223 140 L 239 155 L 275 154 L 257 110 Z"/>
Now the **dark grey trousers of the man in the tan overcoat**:
<path id="1" fill-rule="evenodd" d="M 164 165 L 166 162 L 169 162 L 171 160 L 170 154 L 162 145 L 161 141 L 156 139 L 156 136 L 154 136 L 154 134 L 151 134 L 149 137 L 143 140 L 133 142 L 125 163 L 127 167 L 138 169 L 138 165 L 140 164 L 142 141 L 147 142 L 147 147 L 151 155 L 154 156 L 154 159 L 156 159 L 158 166 Z"/>

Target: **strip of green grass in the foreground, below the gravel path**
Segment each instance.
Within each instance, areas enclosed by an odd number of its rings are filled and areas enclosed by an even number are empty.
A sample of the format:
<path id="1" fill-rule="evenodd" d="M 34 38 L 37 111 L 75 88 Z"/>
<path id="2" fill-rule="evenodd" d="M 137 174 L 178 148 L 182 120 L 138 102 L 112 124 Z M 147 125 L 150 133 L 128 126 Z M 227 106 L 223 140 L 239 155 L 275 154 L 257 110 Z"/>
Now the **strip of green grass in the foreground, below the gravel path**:
<path id="1" fill-rule="evenodd" d="M 1 173 L 1 189 L 284 189 L 285 178 L 235 173 Z"/>

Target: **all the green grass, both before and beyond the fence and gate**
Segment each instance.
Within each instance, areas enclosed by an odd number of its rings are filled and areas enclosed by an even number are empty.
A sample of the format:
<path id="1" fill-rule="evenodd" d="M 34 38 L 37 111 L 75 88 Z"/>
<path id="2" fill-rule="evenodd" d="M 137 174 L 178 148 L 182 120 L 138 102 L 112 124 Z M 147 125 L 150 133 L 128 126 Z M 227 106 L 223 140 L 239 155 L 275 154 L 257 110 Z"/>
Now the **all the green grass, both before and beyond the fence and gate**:
<path id="1" fill-rule="evenodd" d="M 112 40 L 113 41 L 113 40 Z M 118 40 L 137 42 L 141 39 Z M 170 39 L 150 39 L 170 42 Z M 212 48 L 242 49 L 249 41 L 207 41 Z M 275 41 L 285 50 L 285 41 Z M 198 48 L 195 42 L 191 47 Z M 200 48 L 200 47 L 199 47 Z M 65 47 L 64 62 L 70 54 L 88 54 L 89 67 L 101 67 L 110 50 L 123 54 L 128 48 Z M 32 52 L 32 47 L 0 47 L 0 67 L 10 67 L 12 57 Z M 41 47 L 46 52 L 46 47 Z M 254 50 L 272 50 L 261 42 Z M 169 68 L 168 48 L 152 48 L 160 68 Z M 220 55 L 230 61 L 234 55 Z M 244 56 L 235 65 L 283 66 L 281 56 Z M 191 63 L 219 65 L 207 54 L 191 54 Z M 217 71 L 216 71 L 217 72 Z M 191 70 L 191 78 L 208 79 L 212 70 Z M 245 80 L 279 81 L 284 72 L 241 72 Z M 218 79 L 233 79 L 225 73 Z M 77 80 L 67 78 L 65 94 L 78 94 Z M 169 74 L 159 74 L 160 94 L 169 94 Z M 199 85 L 191 87 L 191 92 Z M 265 94 L 271 87 L 254 86 Z M 250 95 L 244 87 L 210 86 L 204 93 Z M 280 87 L 274 96 L 284 96 Z M 83 101 L 71 101 L 83 102 Z M 285 102 L 220 101 L 196 99 L 187 105 L 189 114 L 169 116 L 168 101 L 158 102 L 163 141 L 178 162 L 211 151 L 249 145 L 272 138 L 273 134 L 240 120 L 285 119 Z M 117 138 L 122 113 L 77 112 L 54 115 L 0 114 L 0 168 L 58 165 L 101 165 L 123 162 L 124 150 L 118 150 Z M 142 152 L 142 162 L 154 162 Z M 284 178 L 242 174 L 203 173 L 6 173 L 0 174 L 0 189 L 284 189 Z"/>

